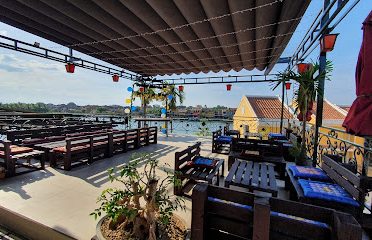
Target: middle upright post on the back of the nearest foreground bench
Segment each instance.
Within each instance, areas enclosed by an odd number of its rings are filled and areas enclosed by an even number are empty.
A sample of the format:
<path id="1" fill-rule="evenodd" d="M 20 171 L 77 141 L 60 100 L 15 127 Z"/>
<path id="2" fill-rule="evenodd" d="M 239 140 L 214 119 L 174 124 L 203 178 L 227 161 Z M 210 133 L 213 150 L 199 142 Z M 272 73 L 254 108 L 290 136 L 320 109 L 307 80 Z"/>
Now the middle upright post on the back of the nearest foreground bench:
<path id="1" fill-rule="evenodd" d="M 270 205 L 267 198 L 256 198 L 253 207 L 252 240 L 269 240 L 270 238 Z"/>

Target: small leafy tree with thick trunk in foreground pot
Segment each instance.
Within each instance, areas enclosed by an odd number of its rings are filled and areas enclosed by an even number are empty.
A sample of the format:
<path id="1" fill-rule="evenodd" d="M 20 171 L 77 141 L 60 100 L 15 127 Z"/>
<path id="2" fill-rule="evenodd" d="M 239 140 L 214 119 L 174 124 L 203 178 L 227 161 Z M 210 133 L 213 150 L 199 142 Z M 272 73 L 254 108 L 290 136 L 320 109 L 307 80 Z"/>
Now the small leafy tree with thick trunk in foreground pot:
<path id="1" fill-rule="evenodd" d="M 184 202 L 168 193 L 170 185 L 179 186 L 181 182 L 166 170 L 161 180 L 158 164 L 150 154 L 133 154 L 118 172 L 114 168 L 108 170 L 110 181 L 122 188 L 104 190 L 98 198 L 99 207 L 91 213 L 95 219 L 106 214 L 97 225 L 100 239 L 185 238 L 185 225 L 173 214 L 185 209 Z"/>

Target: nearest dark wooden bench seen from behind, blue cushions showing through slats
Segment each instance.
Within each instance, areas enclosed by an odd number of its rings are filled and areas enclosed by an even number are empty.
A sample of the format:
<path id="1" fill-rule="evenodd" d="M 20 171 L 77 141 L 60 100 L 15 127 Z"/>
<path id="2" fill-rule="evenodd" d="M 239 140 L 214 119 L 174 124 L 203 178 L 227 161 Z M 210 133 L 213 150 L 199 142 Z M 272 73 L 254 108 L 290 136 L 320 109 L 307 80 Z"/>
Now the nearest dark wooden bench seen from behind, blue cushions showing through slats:
<path id="1" fill-rule="evenodd" d="M 362 229 L 333 209 L 201 183 L 192 193 L 191 239 L 360 240 Z"/>

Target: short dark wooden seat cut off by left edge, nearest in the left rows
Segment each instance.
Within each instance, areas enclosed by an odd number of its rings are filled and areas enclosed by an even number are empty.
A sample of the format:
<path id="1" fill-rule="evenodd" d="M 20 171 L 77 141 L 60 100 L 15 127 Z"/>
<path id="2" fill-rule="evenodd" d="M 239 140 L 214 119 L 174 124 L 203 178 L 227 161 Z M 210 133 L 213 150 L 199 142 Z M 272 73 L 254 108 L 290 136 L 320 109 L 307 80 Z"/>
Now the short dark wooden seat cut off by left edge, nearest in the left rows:
<path id="1" fill-rule="evenodd" d="M 33 164 L 33 160 L 39 161 L 40 164 Z M 0 141 L 0 166 L 1 165 L 4 165 L 7 177 L 41 170 L 45 168 L 44 152 L 29 147 L 14 146 L 7 140 Z M 17 168 L 26 168 L 28 170 L 18 173 L 16 171 Z"/>

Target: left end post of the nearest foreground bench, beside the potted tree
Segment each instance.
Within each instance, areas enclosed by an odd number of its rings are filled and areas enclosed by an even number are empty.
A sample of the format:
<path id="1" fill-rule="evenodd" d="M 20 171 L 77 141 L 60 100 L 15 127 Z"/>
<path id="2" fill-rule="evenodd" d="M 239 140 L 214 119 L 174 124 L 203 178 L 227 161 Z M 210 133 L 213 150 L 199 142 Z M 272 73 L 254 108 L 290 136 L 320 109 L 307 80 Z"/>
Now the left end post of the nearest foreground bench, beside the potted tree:
<path id="1" fill-rule="evenodd" d="M 194 187 L 192 191 L 192 217 L 191 217 L 191 239 L 204 239 L 204 216 L 205 205 L 208 200 L 208 185 L 201 183 Z"/>

